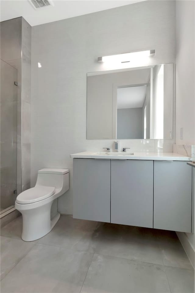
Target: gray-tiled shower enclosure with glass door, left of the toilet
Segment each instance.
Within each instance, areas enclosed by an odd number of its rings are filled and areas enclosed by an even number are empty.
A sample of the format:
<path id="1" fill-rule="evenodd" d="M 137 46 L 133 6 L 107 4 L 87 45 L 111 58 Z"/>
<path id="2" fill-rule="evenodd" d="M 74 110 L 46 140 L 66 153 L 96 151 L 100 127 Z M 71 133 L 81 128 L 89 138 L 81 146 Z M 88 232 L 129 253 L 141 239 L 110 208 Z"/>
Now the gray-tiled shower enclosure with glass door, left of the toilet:
<path id="1" fill-rule="evenodd" d="M 0 225 L 15 219 L 18 194 L 30 188 L 31 26 L 0 23 Z"/>

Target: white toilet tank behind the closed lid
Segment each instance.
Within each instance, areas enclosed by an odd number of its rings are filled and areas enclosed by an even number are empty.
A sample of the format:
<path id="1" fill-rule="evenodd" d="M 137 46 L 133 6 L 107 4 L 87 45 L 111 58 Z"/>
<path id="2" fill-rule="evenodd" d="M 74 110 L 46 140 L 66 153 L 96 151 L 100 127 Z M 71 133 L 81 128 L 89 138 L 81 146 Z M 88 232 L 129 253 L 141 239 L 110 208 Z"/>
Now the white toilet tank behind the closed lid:
<path id="1" fill-rule="evenodd" d="M 54 186 L 56 191 L 64 194 L 69 189 L 69 170 L 44 168 L 38 171 L 35 186 Z"/>

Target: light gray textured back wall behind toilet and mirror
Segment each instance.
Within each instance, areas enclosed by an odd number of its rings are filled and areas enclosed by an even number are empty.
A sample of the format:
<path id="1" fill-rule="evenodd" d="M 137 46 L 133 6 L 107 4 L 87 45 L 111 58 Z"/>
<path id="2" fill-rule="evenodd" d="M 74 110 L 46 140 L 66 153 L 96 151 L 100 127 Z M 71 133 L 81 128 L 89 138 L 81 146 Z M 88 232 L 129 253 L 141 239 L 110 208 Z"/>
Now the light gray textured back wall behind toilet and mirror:
<path id="1" fill-rule="evenodd" d="M 69 155 L 113 145 L 86 139 L 87 72 L 115 68 L 98 63 L 98 56 L 144 49 L 156 54 L 143 66 L 175 62 L 175 1 L 144 1 L 32 27 L 31 186 L 40 168 L 69 168 L 70 190 L 59 198 L 59 212 L 72 213 Z M 122 140 L 119 147 L 172 151 L 173 143 Z"/>

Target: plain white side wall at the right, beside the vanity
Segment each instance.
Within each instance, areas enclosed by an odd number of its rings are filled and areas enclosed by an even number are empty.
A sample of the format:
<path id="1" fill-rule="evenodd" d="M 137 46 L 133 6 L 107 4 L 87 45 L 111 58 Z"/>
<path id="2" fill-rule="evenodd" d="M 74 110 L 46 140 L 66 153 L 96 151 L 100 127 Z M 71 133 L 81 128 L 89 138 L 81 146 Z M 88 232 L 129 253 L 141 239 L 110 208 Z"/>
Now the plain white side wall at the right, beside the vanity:
<path id="1" fill-rule="evenodd" d="M 194 11 L 194 1 L 176 1 L 176 144 L 195 144 Z M 178 233 L 178 236 L 192 261 L 195 234 Z"/>

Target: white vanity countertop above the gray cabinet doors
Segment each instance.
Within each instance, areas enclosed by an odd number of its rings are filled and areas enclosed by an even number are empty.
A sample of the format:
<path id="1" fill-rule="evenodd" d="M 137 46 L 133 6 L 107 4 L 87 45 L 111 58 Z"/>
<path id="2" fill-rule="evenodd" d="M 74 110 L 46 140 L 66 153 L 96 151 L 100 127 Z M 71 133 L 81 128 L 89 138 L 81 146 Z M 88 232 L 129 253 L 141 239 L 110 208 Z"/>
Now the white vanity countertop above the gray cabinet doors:
<path id="1" fill-rule="evenodd" d="M 101 154 L 98 154 L 101 153 Z M 113 153 L 109 152 L 82 152 L 77 154 L 71 154 L 71 158 L 85 158 L 85 159 L 119 159 L 119 160 L 157 160 L 157 161 L 193 161 L 191 157 L 186 157 L 176 153 L 144 153 L 144 152 L 133 152 L 133 155 L 126 153 Z"/>

